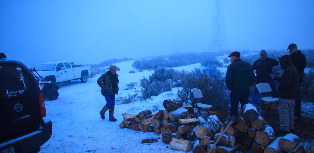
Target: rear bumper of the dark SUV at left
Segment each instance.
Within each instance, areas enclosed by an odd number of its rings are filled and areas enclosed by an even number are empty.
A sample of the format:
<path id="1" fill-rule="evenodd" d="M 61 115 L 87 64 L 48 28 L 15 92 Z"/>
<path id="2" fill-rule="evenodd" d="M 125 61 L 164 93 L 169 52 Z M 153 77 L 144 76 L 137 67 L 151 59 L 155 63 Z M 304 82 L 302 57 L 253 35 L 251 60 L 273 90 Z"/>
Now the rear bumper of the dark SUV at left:
<path id="1" fill-rule="evenodd" d="M 14 147 L 14 152 L 30 152 L 40 148 L 51 137 L 52 123 L 48 117 L 41 118 L 39 130 L 0 144 L 0 150 Z"/>

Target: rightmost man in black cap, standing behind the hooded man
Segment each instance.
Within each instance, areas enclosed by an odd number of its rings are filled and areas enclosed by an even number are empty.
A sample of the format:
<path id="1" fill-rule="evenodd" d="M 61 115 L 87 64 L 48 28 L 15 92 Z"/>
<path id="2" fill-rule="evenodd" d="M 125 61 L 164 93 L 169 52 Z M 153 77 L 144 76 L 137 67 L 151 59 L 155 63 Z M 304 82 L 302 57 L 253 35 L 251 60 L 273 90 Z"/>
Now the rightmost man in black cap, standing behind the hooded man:
<path id="1" fill-rule="evenodd" d="M 298 88 L 298 95 L 295 99 L 294 116 L 295 118 L 300 118 L 301 117 L 300 86 L 301 86 L 301 83 L 304 81 L 304 69 L 306 66 L 306 58 L 305 58 L 305 55 L 302 54 L 300 50 L 298 50 L 295 44 L 290 44 L 287 50 L 289 50 L 292 64 L 296 67 L 299 74 L 299 88 Z"/>

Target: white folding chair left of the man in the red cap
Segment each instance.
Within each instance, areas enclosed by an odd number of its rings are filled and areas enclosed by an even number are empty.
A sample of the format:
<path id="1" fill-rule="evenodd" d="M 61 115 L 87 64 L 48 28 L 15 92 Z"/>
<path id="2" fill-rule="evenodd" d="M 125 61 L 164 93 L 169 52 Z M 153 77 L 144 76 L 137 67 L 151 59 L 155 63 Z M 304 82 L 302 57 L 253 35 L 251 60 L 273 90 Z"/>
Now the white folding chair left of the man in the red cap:
<path id="1" fill-rule="evenodd" d="M 208 105 L 208 104 L 203 104 L 203 103 L 196 103 L 196 98 L 203 98 L 203 94 L 201 92 L 201 90 L 199 90 L 198 88 L 193 88 L 191 90 L 191 95 L 193 98 L 192 101 L 192 106 L 197 108 L 197 112 L 196 112 L 196 116 L 197 114 L 201 115 L 200 109 L 206 109 L 207 113 L 209 114 L 209 109 L 212 108 L 212 105 Z"/>

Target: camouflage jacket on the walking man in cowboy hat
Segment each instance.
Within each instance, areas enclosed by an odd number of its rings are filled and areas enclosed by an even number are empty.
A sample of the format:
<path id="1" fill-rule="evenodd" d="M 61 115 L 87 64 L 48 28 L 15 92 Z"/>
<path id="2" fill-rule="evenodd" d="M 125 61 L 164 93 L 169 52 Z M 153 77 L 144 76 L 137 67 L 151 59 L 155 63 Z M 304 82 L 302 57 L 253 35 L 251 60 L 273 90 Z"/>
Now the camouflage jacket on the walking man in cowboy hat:
<path id="1" fill-rule="evenodd" d="M 98 80 L 97 83 L 98 85 L 101 87 L 101 94 L 104 93 L 115 93 L 118 94 L 119 91 L 119 79 L 118 79 L 118 74 L 112 75 L 110 73 L 110 70 L 107 71 L 106 73 L 102 74 Z M 116 91 L 113 91 L 113 87 L 112 87 L 112 79 L 111 77 L 116 77 Z"/>

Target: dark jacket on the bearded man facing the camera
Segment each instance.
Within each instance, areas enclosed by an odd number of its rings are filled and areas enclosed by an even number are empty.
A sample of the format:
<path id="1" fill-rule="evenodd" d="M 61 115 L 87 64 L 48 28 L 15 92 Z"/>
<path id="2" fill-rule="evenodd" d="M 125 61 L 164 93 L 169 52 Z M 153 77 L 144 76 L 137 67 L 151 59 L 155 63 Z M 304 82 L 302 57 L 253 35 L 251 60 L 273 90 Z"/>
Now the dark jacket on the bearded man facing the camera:
<path id="1" fill-rule="evenodd" d="M 261 62 L 261 66 L 257 66 L 257 63 Z M 263 63 L 265 63 L 265 67 L 263 66 Z M 279 62 L 277 60 L 274 60 L 272 58 L 266 57 L 265 60 L 257 60 L 253 64 L 253 70 L 256 70 L 256 81 L 259 80 L 268 80 L 271 79 L 270 74 L 273 73 L 273 67 L 278 66 Z"/>

